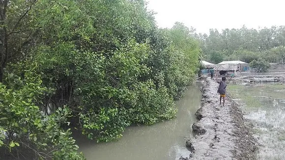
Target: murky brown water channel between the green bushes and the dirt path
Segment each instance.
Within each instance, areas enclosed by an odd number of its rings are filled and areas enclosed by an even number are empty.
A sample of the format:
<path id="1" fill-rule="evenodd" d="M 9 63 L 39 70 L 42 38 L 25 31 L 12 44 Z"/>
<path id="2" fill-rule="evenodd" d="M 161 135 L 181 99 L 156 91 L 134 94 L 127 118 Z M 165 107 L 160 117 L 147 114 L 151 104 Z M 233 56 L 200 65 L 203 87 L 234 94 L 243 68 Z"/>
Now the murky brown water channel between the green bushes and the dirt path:
<path id="1" fill-rule="evenodd" d="M 87 160 L 177 160 L 189 157 L 185 147 L 192 137 L 191 126 L 200 107 L 200 83 L 190 86 L 182 100 L 176 102 L 177 117 L 152 126 L 128 127 L 117 142 L 96 143 L 75 135 Z"/>

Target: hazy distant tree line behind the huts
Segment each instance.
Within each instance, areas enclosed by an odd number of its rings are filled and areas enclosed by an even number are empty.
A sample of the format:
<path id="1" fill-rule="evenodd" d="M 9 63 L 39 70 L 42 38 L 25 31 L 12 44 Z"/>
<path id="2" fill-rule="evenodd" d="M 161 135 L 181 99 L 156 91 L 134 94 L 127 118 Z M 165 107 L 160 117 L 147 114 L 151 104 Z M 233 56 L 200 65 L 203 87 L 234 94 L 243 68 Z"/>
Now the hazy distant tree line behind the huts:
<path id="1" fill-rule="evenodd" d="M 249 29 L 210 29 L 209 35 L 197 34 L 206 59 L 219 63 L 223 60 L 242 60 L 250 63 L 259 58 L 268 62 L 285 62 L 285 27 Z"/>

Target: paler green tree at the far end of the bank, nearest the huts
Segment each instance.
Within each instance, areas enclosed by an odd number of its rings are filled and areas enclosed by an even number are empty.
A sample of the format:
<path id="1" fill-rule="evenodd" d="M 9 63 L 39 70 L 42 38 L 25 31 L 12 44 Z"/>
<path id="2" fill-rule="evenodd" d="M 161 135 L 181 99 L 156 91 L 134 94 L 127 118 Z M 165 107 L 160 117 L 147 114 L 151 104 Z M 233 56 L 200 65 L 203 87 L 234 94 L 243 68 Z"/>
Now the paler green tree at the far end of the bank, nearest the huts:
<path id="1" fill-rule="evenodd" d="M 169 30 L 172 57 L 169 59 L 170 69 L 166 70 L 166 86 L 171 95 L 177 99 L 182 96 L 185 87 L 191 84 L 199 68 L 199 43 L 194 39 L 193 28 L 189 29 L 182 23 L 175 23 Z M 179 68 L 179 70 L 177 70 Z M 171 71 L 171 72 L 169 72 Z M 174 85 L 169 83 L 172 81 Z"/>

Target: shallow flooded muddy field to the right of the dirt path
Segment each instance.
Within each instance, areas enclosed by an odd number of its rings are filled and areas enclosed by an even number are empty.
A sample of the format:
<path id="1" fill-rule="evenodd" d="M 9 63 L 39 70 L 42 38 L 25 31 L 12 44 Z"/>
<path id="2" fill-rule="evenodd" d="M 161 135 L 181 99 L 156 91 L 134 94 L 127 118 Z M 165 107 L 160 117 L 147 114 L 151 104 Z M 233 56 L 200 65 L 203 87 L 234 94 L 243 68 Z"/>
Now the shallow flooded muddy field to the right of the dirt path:
<path id="1" fill-rule="evenodd" d="M 234 98 L 244 104 L 260 143 L 258 160 L 285 160 L 285 85 L 232 85 Z"/>

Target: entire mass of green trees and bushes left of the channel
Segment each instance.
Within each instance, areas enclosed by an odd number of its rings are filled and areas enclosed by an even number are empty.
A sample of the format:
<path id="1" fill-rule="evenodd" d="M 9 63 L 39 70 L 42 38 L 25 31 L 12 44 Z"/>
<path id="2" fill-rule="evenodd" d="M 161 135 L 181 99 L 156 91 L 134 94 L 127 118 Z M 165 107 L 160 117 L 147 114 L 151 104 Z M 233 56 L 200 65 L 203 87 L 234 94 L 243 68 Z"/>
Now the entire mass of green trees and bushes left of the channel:
<path id="1" fill-rule="evenodd" d="M 143 0 L 1 0 L 0 11 L 1 153 L 83 159 L 71 126 L 111 141 L 169 120 L 198 71 L 193 28 L 159 29 Z"/>

